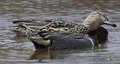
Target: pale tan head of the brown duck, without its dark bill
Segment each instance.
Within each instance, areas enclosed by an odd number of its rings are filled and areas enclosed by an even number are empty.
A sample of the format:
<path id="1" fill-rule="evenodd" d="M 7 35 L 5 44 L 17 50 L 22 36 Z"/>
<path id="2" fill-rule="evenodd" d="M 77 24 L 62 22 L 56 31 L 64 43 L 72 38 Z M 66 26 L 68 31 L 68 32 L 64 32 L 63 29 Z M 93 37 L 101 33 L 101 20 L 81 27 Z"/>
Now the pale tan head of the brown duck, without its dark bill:
<path id="1" fill-rule="evenodd" d="M 83 25 L 90 31 L 99 28 L 102 24 L 108 21 L 107 15 L 102 11 L 93 11 L 84 20 Z"/>

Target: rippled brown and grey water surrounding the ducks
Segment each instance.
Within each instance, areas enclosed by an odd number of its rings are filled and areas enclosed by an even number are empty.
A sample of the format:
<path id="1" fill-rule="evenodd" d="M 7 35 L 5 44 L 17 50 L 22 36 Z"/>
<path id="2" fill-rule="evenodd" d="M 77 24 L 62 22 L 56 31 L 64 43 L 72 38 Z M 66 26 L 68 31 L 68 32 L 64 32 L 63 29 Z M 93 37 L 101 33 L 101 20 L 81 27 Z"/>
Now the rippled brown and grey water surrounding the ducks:
<path id="1" fill-rule="evenodd" d="M 62 18 L 83 21 L 93 10 L 107 13 L 117 28 L 109 30 L 101 49 L 35 51 L 33 44 L 9 30 L 14 19 Z M 0 64 L 119 64 L 120 0 L 0 0 Z"/>

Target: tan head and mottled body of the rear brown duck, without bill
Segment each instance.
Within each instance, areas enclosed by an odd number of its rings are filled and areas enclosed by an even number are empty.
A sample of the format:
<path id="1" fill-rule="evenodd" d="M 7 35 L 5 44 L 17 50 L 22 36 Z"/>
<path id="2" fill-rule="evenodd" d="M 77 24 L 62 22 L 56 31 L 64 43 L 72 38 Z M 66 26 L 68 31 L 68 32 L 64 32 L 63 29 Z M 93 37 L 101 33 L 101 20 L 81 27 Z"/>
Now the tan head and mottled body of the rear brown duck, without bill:
<path id="1" fill-rule="evenodd" d="M 24 33 L 26 35 L 28 34 L 36 34 L 37 32 L 41 31 L 46 31 L 48 33 L 69 33 L 69 34 L 79 34 L 79 35 L 86 35 L 89 31 L 93 31 L 100 27 L 104 21 L 108 20 L 107 16 L 105 13 L 102 11 L 93 11 L 91 12 L 87 18 L 84 20 L 82 24 L 77 24 L 74 22 L 66 22 L 66 21 L 50 21 L 50 22 L 43 22 L 44 25 L 38 25 L 42 22 L 39 23 L 32 23 L 32 27 L 30 26 L 30 23 L 22 23 L 22 25 L 18 25 L 17 30 L 20 32 L 20 29 L 22 26 L 23 30 L 21 32 L 26 32 Z M 37 27 L 36 27 L 37 25 Z"/>

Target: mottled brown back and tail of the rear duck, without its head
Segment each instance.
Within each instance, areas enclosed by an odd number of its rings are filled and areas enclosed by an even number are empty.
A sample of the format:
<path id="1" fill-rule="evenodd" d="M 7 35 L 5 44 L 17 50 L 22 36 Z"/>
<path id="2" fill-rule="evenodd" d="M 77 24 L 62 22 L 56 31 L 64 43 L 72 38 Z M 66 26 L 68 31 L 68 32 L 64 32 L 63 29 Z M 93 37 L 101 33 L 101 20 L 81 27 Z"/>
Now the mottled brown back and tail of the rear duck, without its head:
<path id="1" fill-rule="evenodd" d="M 22 26 L 22 30 L 21 27 Z M 19 29 L 16 29 L 19 32 L 26 34 L 29 37 L 38 36 L 38 32 L 47 32 L 47 33 L 65 33 L 65 34 L 79 34 L 79 35 L 87 35 L 89 29 L 82 24 L 78 24 L 75 22 L 66 22 L 66 21 L 52 21 L 49 24 L 40 27 L 39 29 L 33 29 L 22 23 L 18 26 Z M 24 28 L 23 28 L 24 27 Z M 20 31 L 21 30 L 21 31 Z"/>

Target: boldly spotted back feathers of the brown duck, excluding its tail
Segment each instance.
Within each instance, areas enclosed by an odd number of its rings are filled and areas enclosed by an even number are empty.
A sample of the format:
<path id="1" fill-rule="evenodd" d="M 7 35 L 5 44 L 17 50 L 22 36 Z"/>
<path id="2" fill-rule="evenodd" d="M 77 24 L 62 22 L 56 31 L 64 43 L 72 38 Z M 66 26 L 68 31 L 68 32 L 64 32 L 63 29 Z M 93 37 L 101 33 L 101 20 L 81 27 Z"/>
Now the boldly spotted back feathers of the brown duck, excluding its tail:
<path id="1" fill-rule="evenodd" d="M 62 30 L 61 30 L 62 29 Z M 40 31 L 87 35 L 89 29 L 84 25 L 70 22 L 53 22 Z"/>

